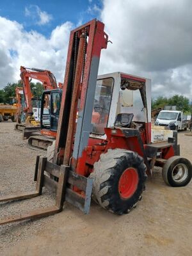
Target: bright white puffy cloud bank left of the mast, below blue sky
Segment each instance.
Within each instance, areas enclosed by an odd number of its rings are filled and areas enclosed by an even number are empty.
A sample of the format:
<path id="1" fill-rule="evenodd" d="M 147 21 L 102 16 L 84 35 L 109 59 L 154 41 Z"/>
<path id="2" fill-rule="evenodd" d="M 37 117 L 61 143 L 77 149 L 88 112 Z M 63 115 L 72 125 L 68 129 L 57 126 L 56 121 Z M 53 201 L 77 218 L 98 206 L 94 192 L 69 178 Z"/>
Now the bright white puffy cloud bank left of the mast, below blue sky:
<path id="1" fill-rule="evenodd" d="M 51 70 L 63 82 L 72 23 L 57 26 L 49 38 L 3 17 L 0 27 L 0 88 L 20 79 L 21 65 Z"/>

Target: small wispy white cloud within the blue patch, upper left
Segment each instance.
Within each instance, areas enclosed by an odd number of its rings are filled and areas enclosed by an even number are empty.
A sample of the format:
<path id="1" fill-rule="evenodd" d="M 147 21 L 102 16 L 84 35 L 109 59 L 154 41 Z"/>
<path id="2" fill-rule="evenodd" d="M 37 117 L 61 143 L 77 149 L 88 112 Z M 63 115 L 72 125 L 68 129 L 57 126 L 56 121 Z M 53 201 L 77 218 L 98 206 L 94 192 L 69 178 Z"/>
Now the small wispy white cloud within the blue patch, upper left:
<path id="1" fill-rule="evenodd" d="M 45 25 L 52 20 L 52 15 L 40 10 L 40 8 L 35 5 L 31 4 L 29 7 L 25 8 L 25 15 L 26 17 L 31 17 L 33 20 L 36 20 L 36 24 L 38 25 Z"/>

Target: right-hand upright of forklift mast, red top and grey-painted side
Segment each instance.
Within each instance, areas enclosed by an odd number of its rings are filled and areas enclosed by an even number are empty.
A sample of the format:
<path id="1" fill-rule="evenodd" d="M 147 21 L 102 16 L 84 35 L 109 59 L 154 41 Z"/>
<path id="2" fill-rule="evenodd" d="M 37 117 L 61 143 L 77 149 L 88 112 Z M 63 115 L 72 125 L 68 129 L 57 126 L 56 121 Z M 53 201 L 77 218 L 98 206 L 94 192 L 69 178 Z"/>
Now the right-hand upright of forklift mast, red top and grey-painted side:
<path id="1" fill-rule="evenodd" d="M 81 99 L 78 109 L 78 120 L 74 152 L 72 156 L 72 168 L 81 174 L 83 170 L 83 150 L 88 144 L 89 134 L 92 130 L 92 109 L 97 84 L 101 49 L 106 49 L 108 36 L 104 33 L 104 24 L 95 22 L 90 25 L 88 45 L 86 49 L 86 63 L 81 88 Z M 81 169 L 81 170 L 80 170 Z"/>

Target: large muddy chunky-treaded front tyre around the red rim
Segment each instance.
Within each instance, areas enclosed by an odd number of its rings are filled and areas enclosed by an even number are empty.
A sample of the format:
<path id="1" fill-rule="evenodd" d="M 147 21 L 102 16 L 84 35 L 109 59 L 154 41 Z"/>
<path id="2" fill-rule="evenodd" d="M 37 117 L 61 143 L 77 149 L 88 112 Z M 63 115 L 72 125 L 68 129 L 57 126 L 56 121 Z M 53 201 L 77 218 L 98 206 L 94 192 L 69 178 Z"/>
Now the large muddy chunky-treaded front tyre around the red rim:
<path id="1" fill-rule="evenodd" d="M 120 195 L 118 182 L 127 168 L 136 170 L 138 185 L 134 194 L 125 199 Z M 116 148 L 100 155 L 90 177 L 93 178 L 93 198 L 104 209 L 120 215 L 128 213 L 141 200 L 147 179 L 146 166 L 136 152 Z"/>

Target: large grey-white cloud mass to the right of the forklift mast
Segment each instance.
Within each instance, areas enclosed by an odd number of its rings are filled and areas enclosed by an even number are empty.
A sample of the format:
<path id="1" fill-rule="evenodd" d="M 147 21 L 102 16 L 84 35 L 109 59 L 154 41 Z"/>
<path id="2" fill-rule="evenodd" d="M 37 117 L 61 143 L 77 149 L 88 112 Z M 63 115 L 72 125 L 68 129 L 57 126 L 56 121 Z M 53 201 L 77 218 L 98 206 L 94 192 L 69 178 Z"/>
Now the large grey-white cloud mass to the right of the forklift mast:
<path id="1" fill-rule="evenodd" d="M 153 95 L 192 98 L 190 0 L 104 0 L 100 17 L 113 44 L 100 73 L 117 70 L 152 79 Z"/>

